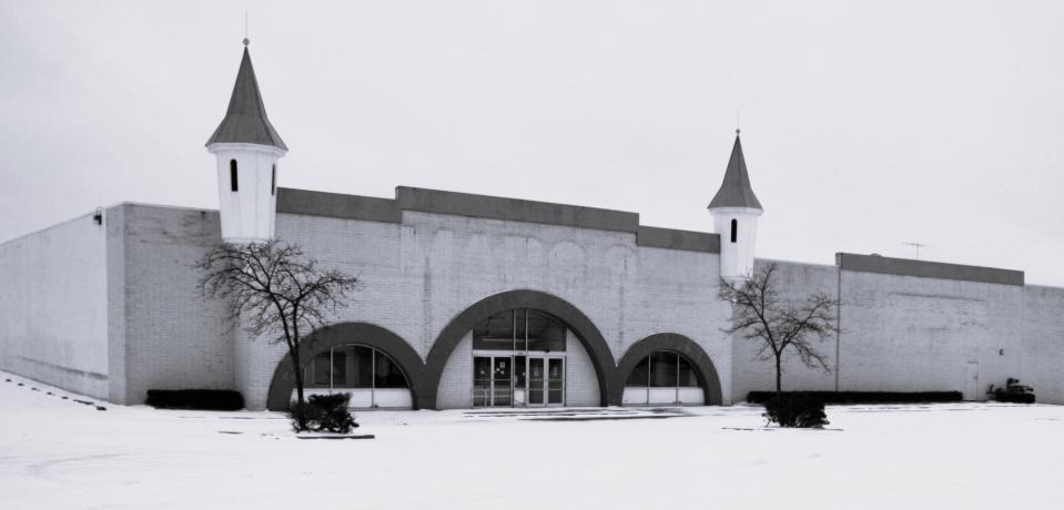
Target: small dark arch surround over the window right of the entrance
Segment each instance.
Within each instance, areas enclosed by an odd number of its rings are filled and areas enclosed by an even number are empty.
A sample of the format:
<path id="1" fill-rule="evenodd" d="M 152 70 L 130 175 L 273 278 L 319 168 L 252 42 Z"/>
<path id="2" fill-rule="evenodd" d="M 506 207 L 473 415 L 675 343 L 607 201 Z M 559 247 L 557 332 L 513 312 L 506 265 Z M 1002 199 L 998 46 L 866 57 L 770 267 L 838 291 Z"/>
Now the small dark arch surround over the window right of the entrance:
<path id="1" fill-rule="evenodd" d="M 720 377 L 717 375 L 717 367 L 702 348 L 695 340 L 676 333 L 659 333 L 650 335 L 628 348 L 625 356 L 620 358 L 617 370 L 614 371 L 614 381 L 610 389 L 610 401 L 621 401 L 625 395 L 625 381 L 636 364 L 647 359 L 651 353 L 658 350 L 671 350 L 683 355 L 698 375 L 698 380 L 702 385 L 702 391 L 706 395 L 706 404 L 719 406 L 722 401 L 720 392 Z"/>

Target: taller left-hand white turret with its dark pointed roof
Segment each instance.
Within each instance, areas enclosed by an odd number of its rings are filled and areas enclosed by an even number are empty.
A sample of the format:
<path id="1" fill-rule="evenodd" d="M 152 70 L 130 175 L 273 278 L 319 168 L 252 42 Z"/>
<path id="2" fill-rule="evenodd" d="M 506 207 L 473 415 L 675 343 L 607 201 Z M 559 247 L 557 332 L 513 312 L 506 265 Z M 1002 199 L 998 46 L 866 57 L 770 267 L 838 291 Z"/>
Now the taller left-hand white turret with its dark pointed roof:
<path id="1" fill-rule="evenodd" d="M 277 160 L 288 147 L 273 129 L 244 39 L 244 57 L 225 118 L 206 142 L 217 160 L 222 239 L 261 243 L 274 236 Z"/>

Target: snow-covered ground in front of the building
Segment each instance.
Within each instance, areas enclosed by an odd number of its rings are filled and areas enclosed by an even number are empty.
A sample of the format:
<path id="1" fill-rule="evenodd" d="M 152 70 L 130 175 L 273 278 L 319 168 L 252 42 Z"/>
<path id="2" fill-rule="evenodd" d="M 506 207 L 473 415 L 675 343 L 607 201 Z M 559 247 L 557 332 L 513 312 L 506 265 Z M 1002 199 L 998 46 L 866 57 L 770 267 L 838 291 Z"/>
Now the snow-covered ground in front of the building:
<path id="1" fill-rule="evenodd" d="M 73 399 L 0 373 L 0 508 L 1064 508 L 1055 406 L 829 407 L 829 430 L 747 406 L 373 411 L 375 439 L 303 440 L 272 412 Z"/>

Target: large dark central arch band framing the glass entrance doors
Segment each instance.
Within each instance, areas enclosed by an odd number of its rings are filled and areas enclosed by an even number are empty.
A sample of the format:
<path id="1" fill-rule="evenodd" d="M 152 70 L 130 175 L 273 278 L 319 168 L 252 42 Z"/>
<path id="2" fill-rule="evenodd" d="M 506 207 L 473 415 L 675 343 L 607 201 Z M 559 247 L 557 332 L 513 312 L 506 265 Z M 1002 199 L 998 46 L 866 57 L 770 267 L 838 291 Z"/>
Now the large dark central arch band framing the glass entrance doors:
<path id="1" fill-rule="evenodd" d="M 576 334 L 591 358 L 595 375 L 598 378 L 601 405 L 615 404 L 609 399 L 612 395 L 610 385 L 615 368 L 614 355 L 598 327 L 576 306 L 560 297 L 539 290 L 519 289 L 485 297 L 450 319 L 450 323 L 436 337 L 432 350 L 428 351 L 428 360 L 425 364 L 425 391 L 418 397 L 420 398 L 418 407 L 424 409 L 436 408 L 436 391 L 439 387 L 439 379 L 444 374 L 444 367 L 466 333 L 482 320 L 500 312 L 515 308 L 546 312 L 565 323 Z M 616 400 L 616 405 L 620 405 L 620 397 Z"/>

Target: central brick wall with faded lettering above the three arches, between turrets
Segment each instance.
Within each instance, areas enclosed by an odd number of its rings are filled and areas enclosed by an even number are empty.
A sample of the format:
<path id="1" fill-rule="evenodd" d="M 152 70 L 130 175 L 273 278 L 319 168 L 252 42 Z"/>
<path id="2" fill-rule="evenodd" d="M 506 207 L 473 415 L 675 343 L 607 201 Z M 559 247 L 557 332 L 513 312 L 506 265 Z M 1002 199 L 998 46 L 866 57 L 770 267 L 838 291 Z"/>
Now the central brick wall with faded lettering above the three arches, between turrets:
<path id="1" fill-rule="evenodd" d="M 731 346 L 718 326 L 727 307 L 713 297 L 716 254 L 637 246 L 635 235 L 625 232 L 409 211 L 402 224 L 280 214 L 277 236 L 359 276 L 362 285 L 337 322 L 388 328 L 423 359 L 443 328 L 474 303 L 506 290 L 537 289 L 584 312 L 607 339 L 615 363 L 632 343 L 656 333 L 695 339 L 717 364 L 726 400 L 731 395 Z M 242 344 L 236 345 L 244 358 L 235 364 L 237 387 L 250 405 L 261 406 L 285 353 Z M 449 363 L 456 356 L 470 355 L 458 350 Z M 582 380 L 577 368 L 579 363 L 570 367 L 572 381 Z M 438 398 L 447 406 L 469 398 L 463 385 L 472 382 L 445 378 L 447 388 Z M 584 382 L 574 391 L 580 401 L 587 399 Z"/>

